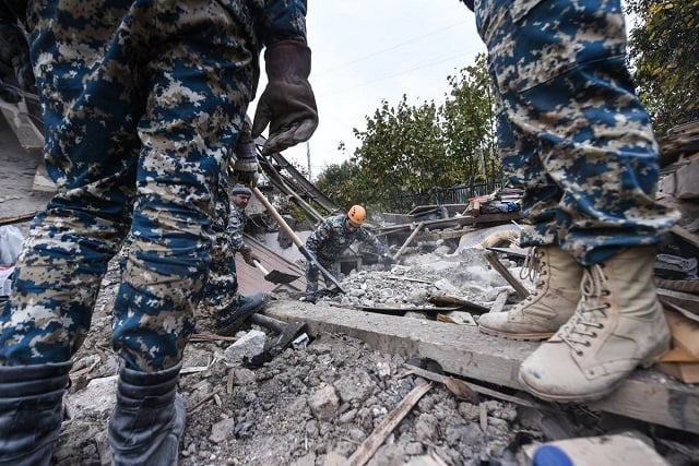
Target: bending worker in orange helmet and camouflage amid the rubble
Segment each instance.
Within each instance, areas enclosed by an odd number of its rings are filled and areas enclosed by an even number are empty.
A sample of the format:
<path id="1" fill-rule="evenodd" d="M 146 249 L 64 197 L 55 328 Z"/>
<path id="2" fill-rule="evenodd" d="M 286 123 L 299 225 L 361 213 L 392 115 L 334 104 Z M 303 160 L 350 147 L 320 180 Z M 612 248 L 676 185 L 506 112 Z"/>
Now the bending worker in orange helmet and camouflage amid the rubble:
<path id="1" fill-rule="evenodd" d="M 346 214 L 325 218 L 306 240 L 306 249 L 333 276 L 340 276 L 336 261 L 354 241 L 374 246 L 379 255 L 386 254 L 386 248 L 371 231 L 363 228 L 367 212 L 360 205 L 353 205 Z M 306 264 L 306 296 L 307 302 L 316 302 L 318 292 L 318 276 L 320 271 L 312 263 Z"/>

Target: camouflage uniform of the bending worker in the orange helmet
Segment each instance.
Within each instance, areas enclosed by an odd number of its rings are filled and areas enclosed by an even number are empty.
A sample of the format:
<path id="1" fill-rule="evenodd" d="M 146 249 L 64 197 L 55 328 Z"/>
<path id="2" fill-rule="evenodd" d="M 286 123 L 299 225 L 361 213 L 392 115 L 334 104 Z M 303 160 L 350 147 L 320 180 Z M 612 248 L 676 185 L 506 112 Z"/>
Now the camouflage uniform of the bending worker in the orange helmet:
<path id="1" fill-rule="evenodd" d="M 306 240 L 306 249 L 313 254 L 323 268 L 339 278 L 340 268 L 336 260 L 355 241 L 366 242 L 377 248 L 379 252 L 383 251 L 383 244 L 371 231 L 364 227 L 356 230 L 347 228 L 346 214 L 322 220 Z M 318 291 L 318 268 L 306 264 L 306 292 Z"/>

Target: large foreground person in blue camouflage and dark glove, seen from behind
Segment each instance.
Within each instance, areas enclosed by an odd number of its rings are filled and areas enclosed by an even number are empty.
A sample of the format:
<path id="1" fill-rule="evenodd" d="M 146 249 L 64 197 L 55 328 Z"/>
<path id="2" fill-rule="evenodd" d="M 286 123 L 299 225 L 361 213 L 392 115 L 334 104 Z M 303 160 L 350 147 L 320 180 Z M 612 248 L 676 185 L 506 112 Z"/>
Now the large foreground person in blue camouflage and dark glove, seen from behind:
<path id="1" fill-rule="evenodd" d="M 209 272 L 216 188 L 256 94 L 262 48 L 269 83 L 252 135 L 270 126 L 263 153 L 308 140 L 318 124 L 306 1 L 29 5 L 58 192 L 34 218 L 0 313 L 0 464 L 49 464 L 71 357 L 129 232 L 114 304 L 122 368 L 111 457 L 176 464 L 186 417 L 177 381 Z M 238 179 L 253 181 L 238 162 Z"/>

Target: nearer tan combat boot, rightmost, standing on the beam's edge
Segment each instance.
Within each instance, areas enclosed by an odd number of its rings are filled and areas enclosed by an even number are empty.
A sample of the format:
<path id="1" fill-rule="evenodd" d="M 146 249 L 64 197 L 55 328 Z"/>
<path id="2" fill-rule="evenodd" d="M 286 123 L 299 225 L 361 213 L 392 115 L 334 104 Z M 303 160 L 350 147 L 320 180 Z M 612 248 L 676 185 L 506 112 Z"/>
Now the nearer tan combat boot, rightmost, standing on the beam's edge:
<path id="1" fill-rule="evenodd" d="M 670 347 L 653 284 L 654 248 L 635 248 L 584 270 L 574 315 L 520 366 L 540 398 L 584 402 L 613 392 Z"/>

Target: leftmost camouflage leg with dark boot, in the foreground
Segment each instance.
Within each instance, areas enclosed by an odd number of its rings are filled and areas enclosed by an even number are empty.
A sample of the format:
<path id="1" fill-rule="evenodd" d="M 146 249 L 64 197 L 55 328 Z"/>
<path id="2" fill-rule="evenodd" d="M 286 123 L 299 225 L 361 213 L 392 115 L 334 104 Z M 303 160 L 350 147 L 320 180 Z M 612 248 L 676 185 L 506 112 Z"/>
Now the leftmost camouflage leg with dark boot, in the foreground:
<path id="1" fill-rule="evenodd" d="M 72 28 L 70 14 L 59 14 L 57 3 L 35 4 L 32 57 L 46 163 L 58 192 L 34 219 L 0 314 L 0 464 L 50 461 L 71 357 L 90 328 L 135 192 L 139 109 L 83 93 L 99 58 L 98 47 L 81 45 L 99 44 L 100 29 Z M 112 95 L 129 94 L 130 76 L 105 85 Z"/>

